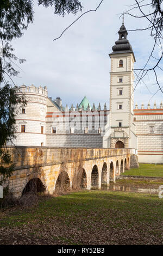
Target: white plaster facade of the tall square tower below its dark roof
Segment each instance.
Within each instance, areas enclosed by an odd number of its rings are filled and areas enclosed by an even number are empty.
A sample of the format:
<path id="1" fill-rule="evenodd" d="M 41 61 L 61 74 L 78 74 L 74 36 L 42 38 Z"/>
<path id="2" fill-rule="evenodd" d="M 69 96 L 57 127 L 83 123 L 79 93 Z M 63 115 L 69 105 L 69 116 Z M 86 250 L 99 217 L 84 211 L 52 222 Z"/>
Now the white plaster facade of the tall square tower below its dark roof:
<path id="1" fill-rule="evenodd" d="M 133 123 L 134 74 L 132 69 L 135 59 L 132 53 L 110 54 L 110 58 L 110 134 L 108 142 L 105 137 L 103 147 L 108 148 L 110 145 L 111 148 L 115 148 L 115 143 L 122 141 L 126 148 L 137 149 L 137 137 Z M 120 60 L 123 60 L 122 68 L 118 66 Z M 121 82 L 119 82 L 120 78 Z M 121 123 L 121 127 L 119 127 L 119 123 Z"/>

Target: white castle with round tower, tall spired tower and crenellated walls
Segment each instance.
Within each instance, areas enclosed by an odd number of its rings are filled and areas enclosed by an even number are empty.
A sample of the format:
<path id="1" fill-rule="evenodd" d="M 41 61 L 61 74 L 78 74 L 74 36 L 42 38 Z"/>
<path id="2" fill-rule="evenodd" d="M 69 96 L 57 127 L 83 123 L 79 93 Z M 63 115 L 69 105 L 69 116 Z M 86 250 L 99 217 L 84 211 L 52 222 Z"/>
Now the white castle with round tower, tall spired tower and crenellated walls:
<path id="1" fill-rule="evenodd" d="M 163 105 L 134 109 L 133 49 L 124 24 L 112 47 L 110 109 L 90 105 L 86 96 L 69 109 L 60 97 L 52 100 L 47 88 L 21 86 L 15 93 L 26 96 L 18 105 L 15 145 L 74 148 L 132 148 L 139 162 L 163 163 Z"/>

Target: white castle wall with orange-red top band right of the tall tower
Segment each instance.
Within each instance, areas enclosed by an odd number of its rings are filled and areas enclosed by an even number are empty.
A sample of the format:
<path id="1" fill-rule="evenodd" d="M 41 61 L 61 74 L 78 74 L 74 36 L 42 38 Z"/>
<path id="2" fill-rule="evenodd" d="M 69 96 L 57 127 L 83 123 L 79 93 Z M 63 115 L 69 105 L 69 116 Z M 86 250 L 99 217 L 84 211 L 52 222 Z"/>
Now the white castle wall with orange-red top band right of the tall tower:
<path id="1" fill-rule="evenodd" d="M 135 107 L 135 127 L 138 138 L 138 157 L 142 163 L 163 163 L 163 109 L 156 108 L 156 103 L 151 109 L 141 105 Z M 149 132 L 149 126 L 154 126 L 154 133 Z"/>

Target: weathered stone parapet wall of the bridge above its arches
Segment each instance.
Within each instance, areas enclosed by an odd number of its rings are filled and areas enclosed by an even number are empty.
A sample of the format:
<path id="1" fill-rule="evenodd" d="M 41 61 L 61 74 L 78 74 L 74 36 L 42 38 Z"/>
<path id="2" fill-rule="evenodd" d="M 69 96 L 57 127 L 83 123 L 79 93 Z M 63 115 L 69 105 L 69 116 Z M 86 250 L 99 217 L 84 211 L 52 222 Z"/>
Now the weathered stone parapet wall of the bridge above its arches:
<path id="1" fill-rule="evenodd" d="M 107 157 L 130 155 L 131 149 L 86 149 L 54 147 L 9 147 L 15 169 L 31 168 L 62 162 L 86 161 Z"/>

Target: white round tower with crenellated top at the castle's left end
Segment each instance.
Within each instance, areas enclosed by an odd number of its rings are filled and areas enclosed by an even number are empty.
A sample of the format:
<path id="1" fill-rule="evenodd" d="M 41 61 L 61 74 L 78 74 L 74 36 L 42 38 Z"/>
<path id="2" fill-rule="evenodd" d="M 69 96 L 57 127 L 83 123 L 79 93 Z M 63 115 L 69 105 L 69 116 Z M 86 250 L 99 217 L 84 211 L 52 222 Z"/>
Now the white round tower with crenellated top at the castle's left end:
<path id="1" fill-rule="evenodd" d="M 46 145 L 47 87 L 21 86 L 15 88 L 17 96 L 24 95 L 27 105 L 17 105 L 15 145 Z"/>

